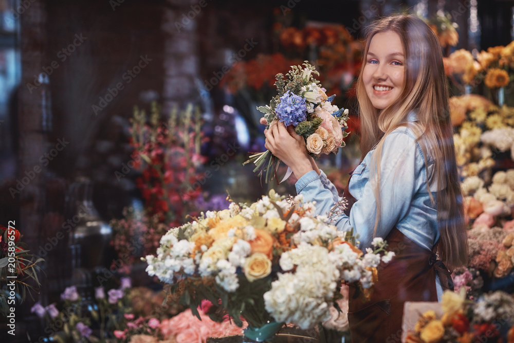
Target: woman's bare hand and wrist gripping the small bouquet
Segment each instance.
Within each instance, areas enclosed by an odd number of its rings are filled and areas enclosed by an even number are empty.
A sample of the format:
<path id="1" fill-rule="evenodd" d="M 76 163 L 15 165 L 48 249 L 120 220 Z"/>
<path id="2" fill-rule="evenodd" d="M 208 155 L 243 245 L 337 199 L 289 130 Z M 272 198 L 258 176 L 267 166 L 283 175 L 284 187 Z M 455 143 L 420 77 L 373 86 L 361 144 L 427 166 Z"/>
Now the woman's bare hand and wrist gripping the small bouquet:
<path id="1" fill-rule="evenodd" d="M 262 121 L 263 119 L 261 123 Z M 292 125 L 286 128 L 283 122 L 273 121 L 269 130 L 264 130 L 264 135 L 266 136 L 264 147 L 291 168 L 297 179 L 317 169 L 311 165 L 305 139 L 295 132 Z"/>

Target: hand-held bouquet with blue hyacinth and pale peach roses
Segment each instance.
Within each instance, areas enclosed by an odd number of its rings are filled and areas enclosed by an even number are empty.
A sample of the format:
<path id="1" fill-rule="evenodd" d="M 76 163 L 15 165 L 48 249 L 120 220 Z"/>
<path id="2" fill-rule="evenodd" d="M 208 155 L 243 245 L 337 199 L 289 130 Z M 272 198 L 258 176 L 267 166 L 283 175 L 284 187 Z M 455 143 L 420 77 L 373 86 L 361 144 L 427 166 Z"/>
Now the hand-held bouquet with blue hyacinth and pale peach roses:
<path id="1" fill-rule="evenodd" d="M 318 71 L 307 61 L 303 65 L 303 69 L 300 65 L 291 66 L 285 79 L 281 73 L 277 74 L 275 85 L 279 94 L 269 105 L 257 109 L 264 113 L 268 129 L 277 121 L 282 121 L 286 127 L 293 125 L 295 132 L 305 138 L 311 156 L 337 154 L 344 146 L 343 138 L 348 135 L 345 132 L 348 110 L 332 105 L 335 96 L 327 97 L 325 88 L 313 77 L 313 74 L 319 76 Z M 280 160 L 266 150 L 252 154 L 244 164 L 249 162 L 255 164 L 253 171 L 259 176 L 266 172 L 268 183 L 276 176 Z"/>

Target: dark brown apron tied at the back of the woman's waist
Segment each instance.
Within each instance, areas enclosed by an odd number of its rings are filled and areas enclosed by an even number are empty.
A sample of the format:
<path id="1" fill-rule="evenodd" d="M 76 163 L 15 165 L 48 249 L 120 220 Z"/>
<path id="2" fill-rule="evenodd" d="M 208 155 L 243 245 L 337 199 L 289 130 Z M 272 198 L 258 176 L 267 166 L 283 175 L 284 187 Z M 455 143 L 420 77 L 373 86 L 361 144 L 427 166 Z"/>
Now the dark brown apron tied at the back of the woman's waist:
<path id="1" fill-rule="evenodd" d="M 350 215 L 356 199 L 348 187 L 343 197 L 348 201 L 345 213 Z M 378 282 L 373 287 L 371 299 L 365 301 L 355 287 L 350 287 L 348 322 L 353 343 L 400 342 L 403 304 L 406 301 L 437 301 L 436 274 L 443 290 L 453 291 L 451 273 L 435 255 L 438 242 L 429 251 L 397 228 L 393 228 L 384 240 L 388 244 L 387 250 L 394 251 L 395 257 L 378 266 Z"/>

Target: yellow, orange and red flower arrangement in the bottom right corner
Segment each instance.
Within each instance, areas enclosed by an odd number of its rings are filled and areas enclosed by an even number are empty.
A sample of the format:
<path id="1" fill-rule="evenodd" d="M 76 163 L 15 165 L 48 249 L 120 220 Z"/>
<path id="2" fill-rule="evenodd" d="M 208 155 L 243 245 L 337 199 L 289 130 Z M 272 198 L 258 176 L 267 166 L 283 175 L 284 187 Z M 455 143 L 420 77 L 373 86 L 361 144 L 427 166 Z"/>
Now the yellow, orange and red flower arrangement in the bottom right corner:
<path id="1" fill-rule="evenodd" d="M 407 343 L 514 341 L 512 312 L 514 301 L 504 292 L 484 294 L 476 301 L 465 301 L 464 293 L 446 291 L 442 315 L 429 310 L 419 316 Z"/>

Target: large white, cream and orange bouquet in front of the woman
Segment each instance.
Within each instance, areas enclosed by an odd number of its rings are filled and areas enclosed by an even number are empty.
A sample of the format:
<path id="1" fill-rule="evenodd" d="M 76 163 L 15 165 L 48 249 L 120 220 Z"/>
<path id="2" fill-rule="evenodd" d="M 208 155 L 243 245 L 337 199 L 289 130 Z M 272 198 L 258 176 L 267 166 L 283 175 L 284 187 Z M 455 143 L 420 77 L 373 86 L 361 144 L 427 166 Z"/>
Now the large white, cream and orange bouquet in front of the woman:
<path id="1" fill-rule="evenodd" d="M 330 224 L 345 203 L 328 216 L 314 217 L 315 204 L 303 196 L 269 195 L 247 206 L 231 202 L 229 209 L 202 212 L 191 223 L 172 228 L 161 238 L 157 256 L 146 256 L 146 272 L 171 284 L 170 296 L 198 316 L 204 299 L 228 314 L 245 335 L 283 322 L 313 328 L 331 318 L 330 304 L 341 297 L 341 282 L 369 291 L 376 267 L 394 256 L 375 239 L 365 253 L 355 247 L 352 232 Z M 362 294 L 366 294 L 363 292 Z"/>

